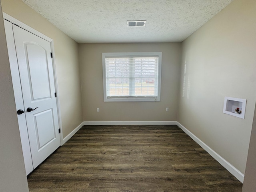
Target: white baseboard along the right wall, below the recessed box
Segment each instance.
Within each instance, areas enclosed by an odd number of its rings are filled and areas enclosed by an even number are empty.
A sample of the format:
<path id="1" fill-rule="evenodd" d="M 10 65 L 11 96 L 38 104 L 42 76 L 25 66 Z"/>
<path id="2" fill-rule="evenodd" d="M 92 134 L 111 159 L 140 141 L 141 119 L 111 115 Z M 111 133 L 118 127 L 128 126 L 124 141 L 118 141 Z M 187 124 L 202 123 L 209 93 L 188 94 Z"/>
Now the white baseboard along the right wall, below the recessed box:
<path id="1" fill-rule="evenodd" d="M 232 164 L 226 161 L 222 156 L 216 153 L 212 148 L 202 142 L 198 137 L 196 137 L 192 132 L 187 130 L 182 124 L 177 122 L 177 126 L 181 128 L 188 136 L 190 136 L 195 142 L 197 142 L 206 152 L 208 152 L 216 161 L 218 161 L 226 170 L 228 170 L 232 175 L 234 175 L 240 182 L 244 182 L 244 174 L 242 174 L 238 169 L 236 169 Z"/>

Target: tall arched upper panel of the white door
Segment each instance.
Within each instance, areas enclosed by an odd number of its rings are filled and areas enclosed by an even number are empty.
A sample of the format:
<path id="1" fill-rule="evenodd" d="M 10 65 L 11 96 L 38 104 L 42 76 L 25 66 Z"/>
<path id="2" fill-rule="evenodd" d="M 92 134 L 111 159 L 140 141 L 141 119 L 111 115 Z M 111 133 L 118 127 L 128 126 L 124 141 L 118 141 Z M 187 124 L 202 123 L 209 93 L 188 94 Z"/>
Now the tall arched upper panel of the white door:
<path id="1" fill-rule="evenodd" d="M 24 48 L 32 100 L 50 98 L 47 51 L 40 45 L 30 42 L 24 42 Z"/>

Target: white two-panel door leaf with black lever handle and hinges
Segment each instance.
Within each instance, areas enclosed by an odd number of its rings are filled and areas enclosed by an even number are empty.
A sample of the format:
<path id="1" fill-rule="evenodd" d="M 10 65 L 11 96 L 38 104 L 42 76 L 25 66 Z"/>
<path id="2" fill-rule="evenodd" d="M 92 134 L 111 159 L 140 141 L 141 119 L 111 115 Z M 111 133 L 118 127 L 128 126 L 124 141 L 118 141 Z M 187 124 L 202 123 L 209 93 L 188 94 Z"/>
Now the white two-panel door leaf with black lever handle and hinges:
<path id="1" fill-rule="evenodd" d="M 16 25 L 12 28 L 32 163 L 36 168 L 60 146 L 51 46 Z"/>

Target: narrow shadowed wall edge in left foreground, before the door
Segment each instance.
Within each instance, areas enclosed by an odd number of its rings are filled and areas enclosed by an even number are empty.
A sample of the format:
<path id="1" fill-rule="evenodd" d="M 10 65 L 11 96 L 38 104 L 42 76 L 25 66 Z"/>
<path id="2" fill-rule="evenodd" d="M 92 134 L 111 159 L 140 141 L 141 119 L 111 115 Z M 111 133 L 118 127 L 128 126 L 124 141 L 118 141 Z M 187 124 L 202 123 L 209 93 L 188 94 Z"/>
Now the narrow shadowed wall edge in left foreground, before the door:
<path id="1" fill-rule="evenodd" d="M 0 1 L 1 3 L 1 1 Z M 0 191 L 28 191 L 0 4 Z"/>

